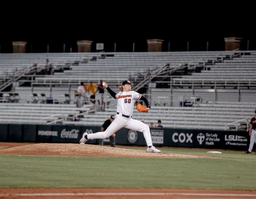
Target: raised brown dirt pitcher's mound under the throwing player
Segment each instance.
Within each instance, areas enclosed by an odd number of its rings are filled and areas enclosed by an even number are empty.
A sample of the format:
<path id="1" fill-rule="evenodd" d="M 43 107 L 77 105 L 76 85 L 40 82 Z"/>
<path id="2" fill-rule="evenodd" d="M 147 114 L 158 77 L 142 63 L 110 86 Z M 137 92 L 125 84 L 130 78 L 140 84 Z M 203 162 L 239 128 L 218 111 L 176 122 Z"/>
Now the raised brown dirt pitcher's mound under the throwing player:
<path id="1" fill-rule="evenodd" d="M 145 150 L 121 149 L 99 145 L 40 143 L 0 149 L 5 155 L 78 156 L 78 157 L 148 157 L 148 158 L 218 158 L 202 155 L 152 153 Z M 159 148 L 160 149 L 160 148 Z M 161 150 L 161 149 L 160 149 Z"/>

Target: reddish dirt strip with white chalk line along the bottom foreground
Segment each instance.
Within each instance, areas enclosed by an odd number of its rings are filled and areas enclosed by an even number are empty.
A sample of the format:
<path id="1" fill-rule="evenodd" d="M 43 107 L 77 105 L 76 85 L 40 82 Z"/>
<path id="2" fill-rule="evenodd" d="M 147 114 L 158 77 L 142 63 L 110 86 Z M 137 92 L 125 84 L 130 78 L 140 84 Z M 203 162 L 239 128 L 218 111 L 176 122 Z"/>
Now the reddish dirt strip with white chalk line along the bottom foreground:
<path id="1" fill-rule="evenodd" d="M 0 198 L 8 199 L 242 199 L 255 197 L 256 191 L 181 189 L 0 189 Z"/>

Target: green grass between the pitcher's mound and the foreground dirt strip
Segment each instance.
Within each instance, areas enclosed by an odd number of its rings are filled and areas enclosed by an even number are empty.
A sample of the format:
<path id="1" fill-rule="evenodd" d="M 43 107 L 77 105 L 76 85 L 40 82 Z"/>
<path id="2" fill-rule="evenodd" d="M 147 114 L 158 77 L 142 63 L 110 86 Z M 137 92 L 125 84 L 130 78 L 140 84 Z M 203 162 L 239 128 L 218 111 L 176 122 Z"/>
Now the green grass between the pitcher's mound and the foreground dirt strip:
<path id="1" fill-rule="evenodd" d="M 127 147 L 145 150 L 145 147 Z M 256 155 L 244 151 L 160 148 L 216 158 L 0 155 L 0 188 L 151 188 L 256 190 Z"/>

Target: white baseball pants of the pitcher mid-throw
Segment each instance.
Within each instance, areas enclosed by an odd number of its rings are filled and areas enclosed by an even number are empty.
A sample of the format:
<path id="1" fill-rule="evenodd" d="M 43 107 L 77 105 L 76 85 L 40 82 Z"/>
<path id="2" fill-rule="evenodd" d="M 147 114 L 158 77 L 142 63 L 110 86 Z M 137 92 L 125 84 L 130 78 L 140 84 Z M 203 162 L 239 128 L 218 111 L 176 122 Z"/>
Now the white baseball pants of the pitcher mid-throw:
<path id="1" fill-rule="evenodd" d="M 108 138 L 113 133 L 117 132 L 119 129 L 123 127 L 134 131 L 142 132 L 146 140 L 147 146 L 153 146 L 150 129 L 148 125 L 144 124 L 141 121 L 134 120 L 132 118 L 126 118 L 118 114 L 116 114 L 114 121 L 109 125 L 109 127 L 104 132 L 88 134 L 87 138 L 89 140 Z"/>

